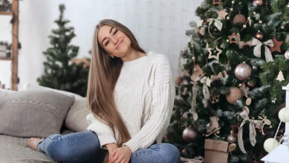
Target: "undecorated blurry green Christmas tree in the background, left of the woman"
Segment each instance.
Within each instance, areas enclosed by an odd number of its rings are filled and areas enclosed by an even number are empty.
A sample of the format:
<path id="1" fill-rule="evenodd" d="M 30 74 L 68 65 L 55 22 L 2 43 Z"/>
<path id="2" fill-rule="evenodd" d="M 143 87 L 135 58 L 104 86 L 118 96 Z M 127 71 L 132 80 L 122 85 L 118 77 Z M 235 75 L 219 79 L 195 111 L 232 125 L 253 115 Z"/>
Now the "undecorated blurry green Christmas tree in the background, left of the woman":
<path id="1" fill-rule="evenodd" d="M 49 35 L 52 47 L 43 52 L 47 57 L 44 74 L 37 81 L 42 86 L 86 96 L 90 59 L 75 58 L 79 48 L 70 45 L 75 37 L 74 28 L 65 26 L 70 22 L 63 18 L 65 5 L 60 4 L 59 10 L 59 18 L 54 21 L 58 28 L 52 29 Z"/>

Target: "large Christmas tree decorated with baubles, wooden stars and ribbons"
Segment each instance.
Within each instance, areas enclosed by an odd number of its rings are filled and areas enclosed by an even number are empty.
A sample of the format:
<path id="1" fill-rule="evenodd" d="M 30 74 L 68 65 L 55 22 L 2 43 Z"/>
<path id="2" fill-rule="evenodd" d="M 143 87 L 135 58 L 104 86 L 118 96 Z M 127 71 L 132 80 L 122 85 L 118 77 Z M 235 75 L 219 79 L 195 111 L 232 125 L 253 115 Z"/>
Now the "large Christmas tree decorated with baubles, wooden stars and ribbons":
<path id="1" fill-rule="evenodd" d="M 183 157 L 204 156 L 205 139 L 227 141 L 231 163 L 257 163 L 267 154 L 264 141 L 276 133 L 281 86 L 289 82 L 289 22 L 270 4 L 205 0 L 197 7 L 165 136 Z"/>

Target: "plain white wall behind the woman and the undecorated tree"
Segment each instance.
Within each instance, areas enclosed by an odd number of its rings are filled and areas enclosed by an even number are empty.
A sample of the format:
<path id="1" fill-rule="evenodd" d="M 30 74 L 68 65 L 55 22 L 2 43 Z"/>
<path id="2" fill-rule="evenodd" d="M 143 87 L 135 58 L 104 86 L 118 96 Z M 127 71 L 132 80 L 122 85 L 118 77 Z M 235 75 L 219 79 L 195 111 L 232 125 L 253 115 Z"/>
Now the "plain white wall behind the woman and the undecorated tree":
<path id="1" fill-rule="evenodd" d="M 202 0 L 21 0 L 18 90 L 25 82 L 37 83 L 43 73 L 42 52 L 50 47 L 48 35 L 59 16 L 58 5 L 65 3 L 64 17 L 75 28 L 72 44 L 79 46 L 78 57 L 90 56 L 92 35 L 102 19 L 114 19 L 128 27 L 146 52 L 167 54 L 177 75 L 178 55 L 190 40 L 185 35 L 189 22 L 197 20 L 195 9 Z M 0 16 L 0 40 L 11 42 L 11 16 Z M 11 61 L 0 60 L 0 81 L 11 87 Z"/>

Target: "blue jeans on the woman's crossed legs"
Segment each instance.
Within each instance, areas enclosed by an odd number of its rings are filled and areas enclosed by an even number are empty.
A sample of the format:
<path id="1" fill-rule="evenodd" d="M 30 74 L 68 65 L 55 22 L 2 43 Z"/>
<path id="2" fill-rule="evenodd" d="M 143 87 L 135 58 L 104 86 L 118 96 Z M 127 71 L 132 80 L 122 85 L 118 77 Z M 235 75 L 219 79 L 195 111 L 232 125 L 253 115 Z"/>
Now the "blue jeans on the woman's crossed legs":
<path id="1" fill-rule="evenodd" d="M 50 135 L 37 144 L 37 150 L 59 163 L 102 163 L 108 152 L 100 148 L 93 131 Z M 129 163 L 180 163 L 180 152 L 170 143 L 155 142 L 132 153 Z"/>

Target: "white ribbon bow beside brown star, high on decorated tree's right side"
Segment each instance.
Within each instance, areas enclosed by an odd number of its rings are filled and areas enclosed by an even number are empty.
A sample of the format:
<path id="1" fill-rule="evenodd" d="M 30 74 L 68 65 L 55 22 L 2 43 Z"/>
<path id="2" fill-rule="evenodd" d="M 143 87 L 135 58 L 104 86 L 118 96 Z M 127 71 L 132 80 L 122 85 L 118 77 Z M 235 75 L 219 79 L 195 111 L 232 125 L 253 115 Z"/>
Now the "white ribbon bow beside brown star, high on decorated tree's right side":
<path id="1" fill-rule="evenodd" d="M 256 38 L 253 38 L 253 41 L 252 41 L 252 46 L 255 46 L 254 48 L 254 55 L 261 58 L 261 46 L 264 45 L 265 47 L 265 58 L 266 58 L 266 61 L 273 61 L 273 57 L 272 57 L 272 54 L 270 52 L 270 49 L 267 47 L 267 45 L 269 47 L 273 47 L 274 46 L 274 43 L 273 41 L 270 39 L 270 40 L 267 40 L 265 42 L 261 42 L 259 41 L 258 39 Z"/>

